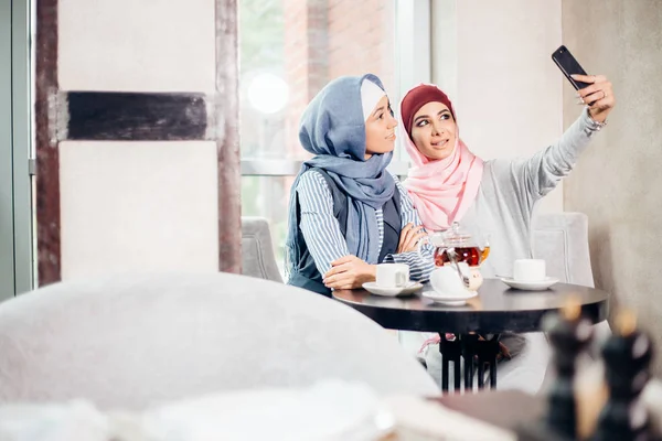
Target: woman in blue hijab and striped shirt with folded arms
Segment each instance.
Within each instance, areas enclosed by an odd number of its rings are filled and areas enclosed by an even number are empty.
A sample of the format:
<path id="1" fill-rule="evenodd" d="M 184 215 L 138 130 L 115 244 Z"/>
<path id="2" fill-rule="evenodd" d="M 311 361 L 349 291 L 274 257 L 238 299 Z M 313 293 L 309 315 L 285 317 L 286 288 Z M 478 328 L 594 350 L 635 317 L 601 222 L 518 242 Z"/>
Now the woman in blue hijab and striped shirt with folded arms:
<path id="1" fill-rule="evenodd" d="M 395 127 L 380 78 L 345 76 L 329 83 L 308 105 L 299 130 L 314 154 L 292 184 L 287 236 L 288 283 L 330 295 L 332 289 L 374 281 L 376 265 L 409 266 L 427 280 L 433 249 L 406 190 L 386 166 Z"/>

